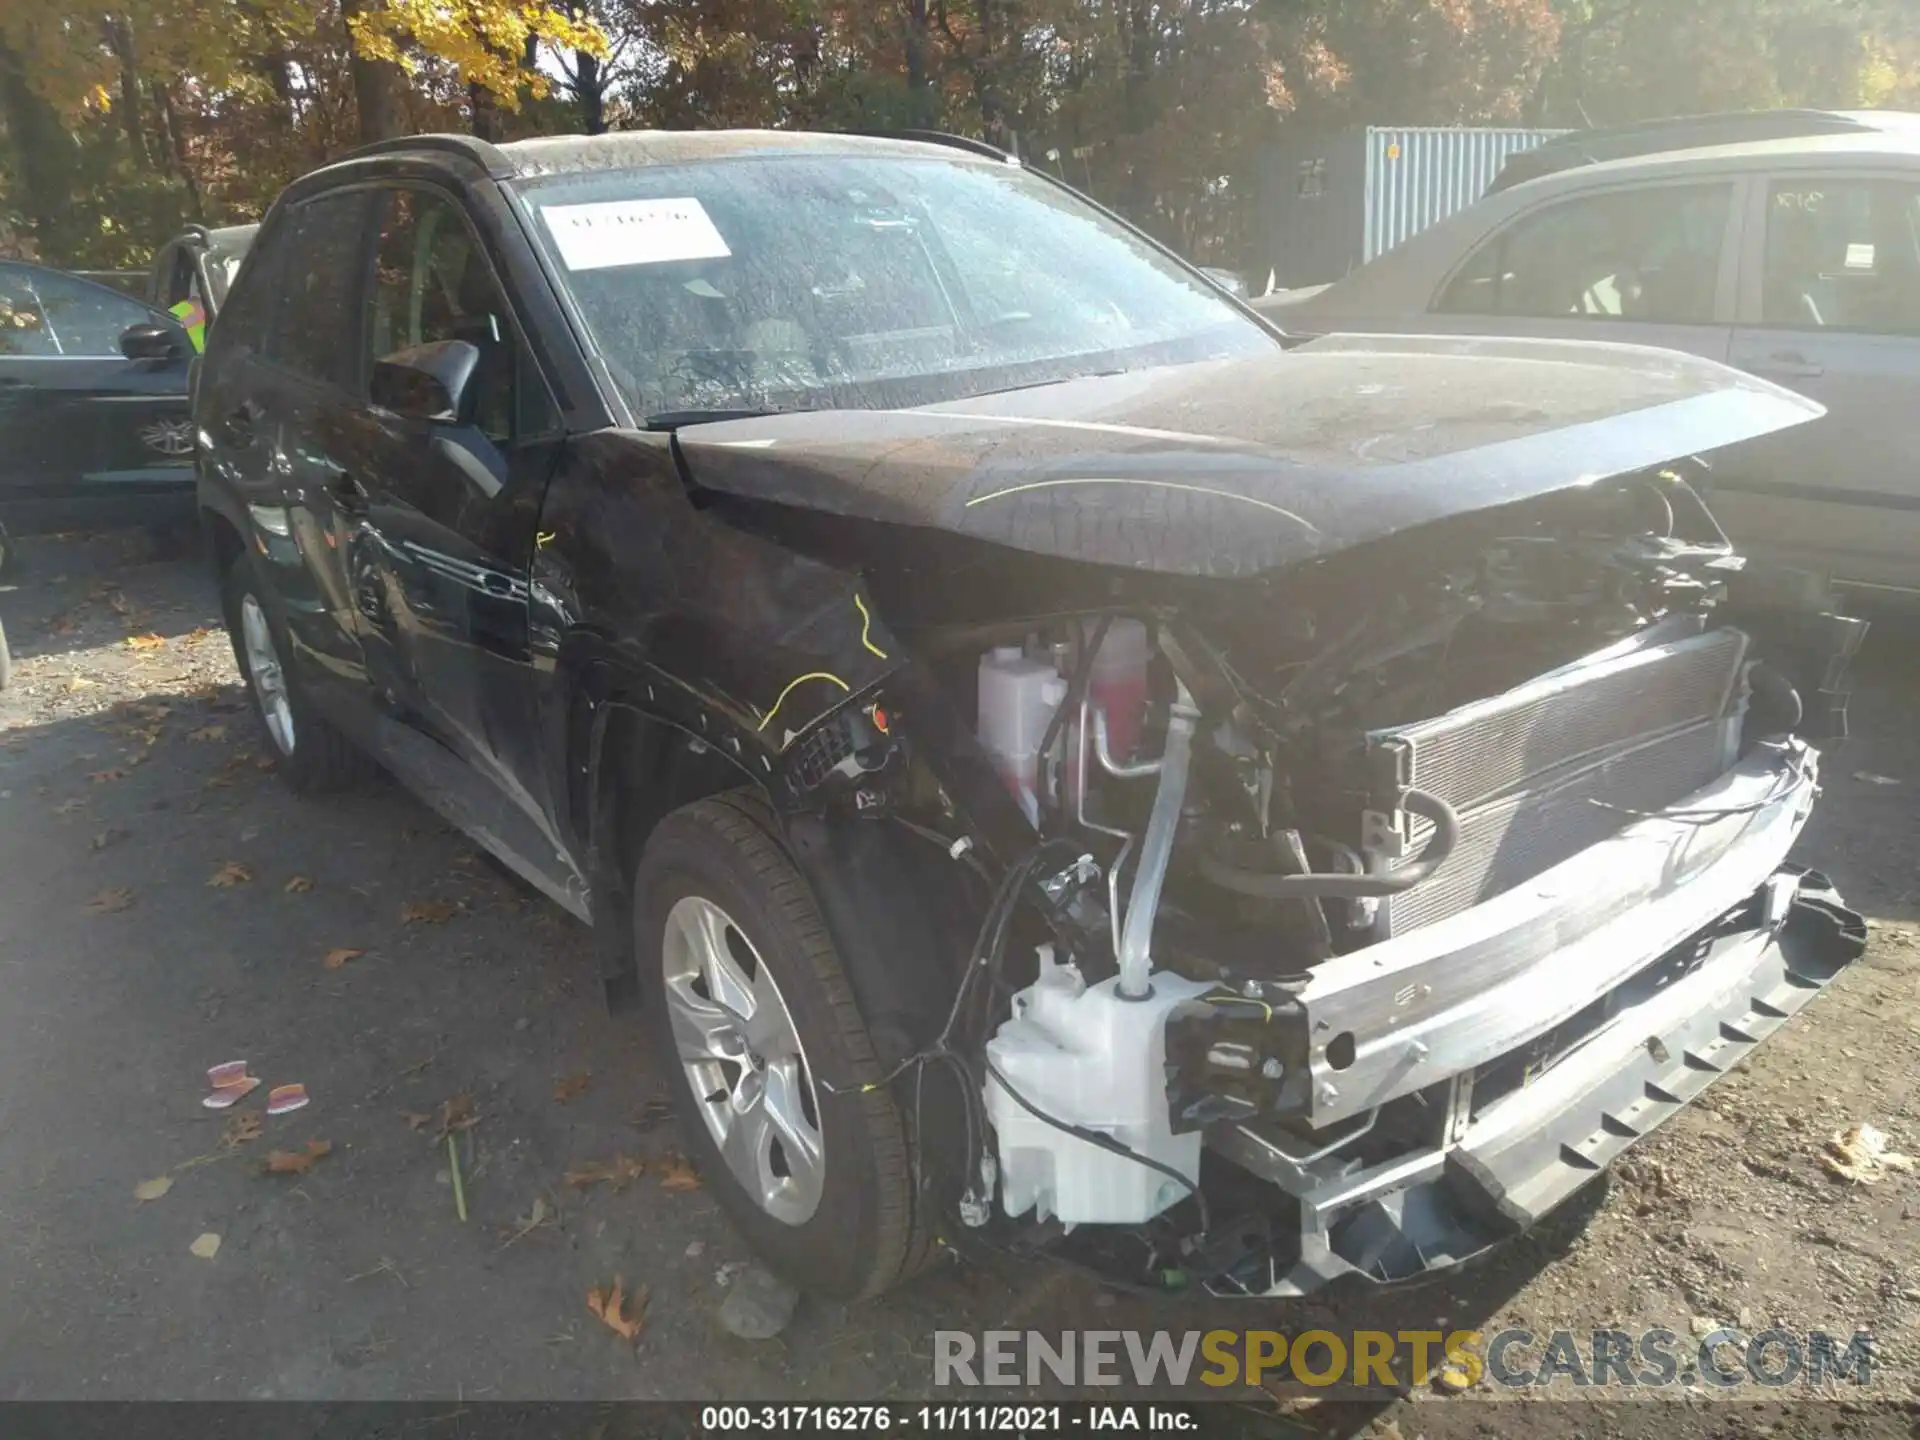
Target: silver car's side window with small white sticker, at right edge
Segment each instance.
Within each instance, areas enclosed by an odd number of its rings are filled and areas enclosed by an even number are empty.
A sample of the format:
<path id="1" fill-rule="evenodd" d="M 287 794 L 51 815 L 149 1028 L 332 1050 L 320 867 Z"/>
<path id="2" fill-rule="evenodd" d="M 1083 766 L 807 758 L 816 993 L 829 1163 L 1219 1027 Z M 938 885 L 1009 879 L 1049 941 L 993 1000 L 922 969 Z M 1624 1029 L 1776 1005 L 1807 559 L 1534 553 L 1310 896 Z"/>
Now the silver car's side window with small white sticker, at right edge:
<path id="1" fill-rule="evenodd" d="M 1920 336 L 1920 184 L 1776 180 L 1766 198 L 1761 323 Z"/>

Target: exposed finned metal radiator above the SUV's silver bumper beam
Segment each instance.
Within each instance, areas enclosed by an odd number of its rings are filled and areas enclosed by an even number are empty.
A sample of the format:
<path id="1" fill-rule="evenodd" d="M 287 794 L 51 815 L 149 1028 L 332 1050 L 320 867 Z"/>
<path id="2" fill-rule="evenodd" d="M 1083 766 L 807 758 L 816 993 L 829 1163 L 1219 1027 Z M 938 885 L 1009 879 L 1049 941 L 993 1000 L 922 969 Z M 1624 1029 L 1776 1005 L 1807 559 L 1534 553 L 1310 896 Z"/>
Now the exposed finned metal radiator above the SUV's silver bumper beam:
<path id="1" fill-rule="evenodd" d="M 1382 806 L 1369 858 L 1390 870 L 1427 843 L 1425 820 L 1388 808 L 1402 785 L 1444 799 L 1461 828 L 1430 879 L 1380 902 L 1382 933 L 1478 904 L 1722 774 L 1740 751 L 1745 655 L 1741 632 L 1711 630 L 1369 735 Z"/>

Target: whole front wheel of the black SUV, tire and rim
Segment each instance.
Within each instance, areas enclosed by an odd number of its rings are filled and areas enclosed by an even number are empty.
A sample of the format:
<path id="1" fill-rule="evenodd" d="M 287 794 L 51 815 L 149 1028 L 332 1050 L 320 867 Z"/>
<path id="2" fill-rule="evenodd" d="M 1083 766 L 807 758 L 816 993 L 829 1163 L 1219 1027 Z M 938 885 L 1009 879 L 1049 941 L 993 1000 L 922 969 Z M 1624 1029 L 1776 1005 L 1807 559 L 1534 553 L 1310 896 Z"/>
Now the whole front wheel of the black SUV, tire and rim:
<path id="1" fill-rule="evenodd" d="M 906 1129 L 812 893 L 745 795 L 666 816 L 634 879 L 636 956 L 687 1146 L 755 1252 L 831 1298 L 927 1252 Z"/>

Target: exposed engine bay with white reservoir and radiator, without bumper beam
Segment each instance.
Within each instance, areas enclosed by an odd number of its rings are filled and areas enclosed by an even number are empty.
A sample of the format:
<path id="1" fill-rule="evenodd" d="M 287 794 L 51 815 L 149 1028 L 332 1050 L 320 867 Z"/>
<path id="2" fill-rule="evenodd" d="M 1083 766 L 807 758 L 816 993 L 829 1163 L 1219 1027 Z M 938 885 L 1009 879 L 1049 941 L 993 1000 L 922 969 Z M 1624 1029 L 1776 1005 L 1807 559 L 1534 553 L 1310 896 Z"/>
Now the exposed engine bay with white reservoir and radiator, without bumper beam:
<path id="1" fill-rule="evenodd" d="M 939 843 L 975 897 L 945 1025 L 897 1069 L 958 1091 L 962 1225 L 1091 1250 L 1102 1273 L 1133 1235 L 1210 1283 L 1273 1248 L 1227 1244 L 1212 1213 L 1250 1177 L 1298 1200 L 1473 1116 L 1469 1069 L 1465 1092 L 1405 1085 L 1317 1123 L 1352 1100 L 1329 1077 L 1392 1041 L 1311 1031 L 1323 968 L 1417 943 L 1640 820 L 1757 812 L 1684 808 L 1757 749 L 1778 751 L 1764 803 L 1811 781 L 1793 735 L 1843 733 L 1862 632 L 1749 584 L 1670 470 L 1271 580 L 1112 589 L 910 634 L 958 716 L 943 745 L 1018 812 L 1018 849 L 968 833 L 977 806 L 933 762 L 925 695 L 847 712 L 797 770 L 818 803 Z M 1521 1069 L 1582 1023 L 1542 1027 Z M 1121 1250 L 1137 1277 L 1139 1246 Z"/>

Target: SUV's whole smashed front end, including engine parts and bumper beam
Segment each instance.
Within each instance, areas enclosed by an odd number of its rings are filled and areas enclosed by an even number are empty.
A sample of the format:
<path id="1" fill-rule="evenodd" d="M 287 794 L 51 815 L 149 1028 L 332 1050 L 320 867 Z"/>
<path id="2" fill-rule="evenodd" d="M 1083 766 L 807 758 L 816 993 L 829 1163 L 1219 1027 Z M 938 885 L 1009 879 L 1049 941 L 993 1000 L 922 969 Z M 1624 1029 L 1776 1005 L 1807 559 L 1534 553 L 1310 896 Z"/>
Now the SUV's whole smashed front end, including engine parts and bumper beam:
<path id="1" fill-rule="evenodd" d="M 966 1233 L 1396 1283 L 1536 1223 L 1859 954 L 1788 854 L 1862 634 L 1647 470 L 897 626 L 789 808 L 952 856 L 977 937 L 895 1075 Z"/>

